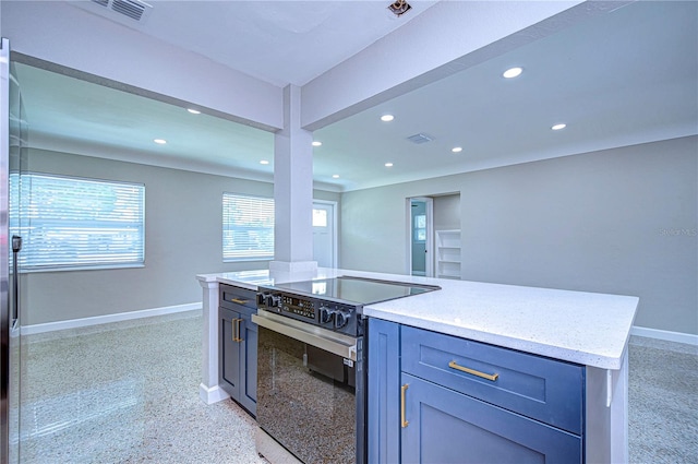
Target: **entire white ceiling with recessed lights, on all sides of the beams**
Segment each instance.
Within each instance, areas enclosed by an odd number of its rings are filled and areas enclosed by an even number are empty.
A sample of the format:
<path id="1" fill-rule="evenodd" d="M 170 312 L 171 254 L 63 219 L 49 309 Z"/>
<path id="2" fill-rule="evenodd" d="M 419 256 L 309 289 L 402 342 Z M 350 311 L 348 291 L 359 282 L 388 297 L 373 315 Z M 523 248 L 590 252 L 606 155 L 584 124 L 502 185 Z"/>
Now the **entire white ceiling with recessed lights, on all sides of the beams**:
<path id="1" fill-rule="evenodd" d="M 302 85 L 409 28 L 434 2 L 410 2 L 400 19 L 376 1 L 152 3 L 137 26 L 144 34 L 276 85 Z M 314 133 L 323 143 L 315 181 L 350 190 L 696 134 L 697 23 L 698 2 L 633 3 L 329 124 Z M 514 64 L 521 76 L 503 79 Z M 268 132 L 23 64 L 17 74 L 32 145 L 250 178 L 273 172 L 260 164 L 273 160 Z M 395 120 L 381 122 L 385 112 Z M 551 131 L 557 122 L 567 128 Z M 434 140 L 406 140 L 420 132 Z"/>

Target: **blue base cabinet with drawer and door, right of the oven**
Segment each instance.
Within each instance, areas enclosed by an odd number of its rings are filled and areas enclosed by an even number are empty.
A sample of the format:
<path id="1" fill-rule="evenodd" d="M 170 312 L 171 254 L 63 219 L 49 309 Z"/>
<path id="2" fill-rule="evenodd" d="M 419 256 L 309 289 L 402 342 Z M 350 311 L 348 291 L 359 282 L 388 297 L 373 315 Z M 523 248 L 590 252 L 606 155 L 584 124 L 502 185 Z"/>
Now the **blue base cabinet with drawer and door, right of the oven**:
<path id="1" fill-rule="evenodd" d="M 369 462 L 582 463 L 583 385 L 582 366 L 371 319 Z"/>

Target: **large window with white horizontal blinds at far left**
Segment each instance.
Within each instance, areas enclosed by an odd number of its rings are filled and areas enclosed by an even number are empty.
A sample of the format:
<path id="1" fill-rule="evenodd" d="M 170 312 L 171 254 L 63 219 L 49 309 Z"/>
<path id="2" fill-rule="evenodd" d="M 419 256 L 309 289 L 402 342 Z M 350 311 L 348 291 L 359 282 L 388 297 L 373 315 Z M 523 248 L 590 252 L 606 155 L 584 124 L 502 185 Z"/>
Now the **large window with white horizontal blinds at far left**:
<path id="1" fill-rule="evenodd" d="M 23 270 L 143 264 L 143 185 L 38 174 L 13 180 L 21 201 L 10 205 L 10 222 L 23 237 Z"/>

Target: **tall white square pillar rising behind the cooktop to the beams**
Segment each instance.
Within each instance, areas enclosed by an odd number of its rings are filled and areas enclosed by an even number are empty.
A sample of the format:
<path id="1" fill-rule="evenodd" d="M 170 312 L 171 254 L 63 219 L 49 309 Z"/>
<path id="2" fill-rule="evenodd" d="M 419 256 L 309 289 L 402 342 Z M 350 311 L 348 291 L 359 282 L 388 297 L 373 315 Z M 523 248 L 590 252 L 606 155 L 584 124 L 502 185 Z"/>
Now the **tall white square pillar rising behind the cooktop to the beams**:
<path id="1" fill-rule="evenodd" d="M 274 253 L 270 271 L 314 271 L 313 135 L 301 128 L 301 90 L 284 88 L 284 129 L 274 135 Z"/>

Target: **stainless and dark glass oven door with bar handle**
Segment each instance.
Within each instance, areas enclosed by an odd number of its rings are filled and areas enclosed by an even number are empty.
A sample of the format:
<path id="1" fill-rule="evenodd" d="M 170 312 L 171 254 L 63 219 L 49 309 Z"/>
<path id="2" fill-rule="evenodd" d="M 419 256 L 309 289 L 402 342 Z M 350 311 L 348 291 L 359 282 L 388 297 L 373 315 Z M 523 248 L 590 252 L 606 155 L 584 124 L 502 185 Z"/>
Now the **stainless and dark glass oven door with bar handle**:
<path id="1" fill-rule="evenodd" d="M 305 464 L 363 463 L 363 338 L 258 313 L 260 427 Z"/>

